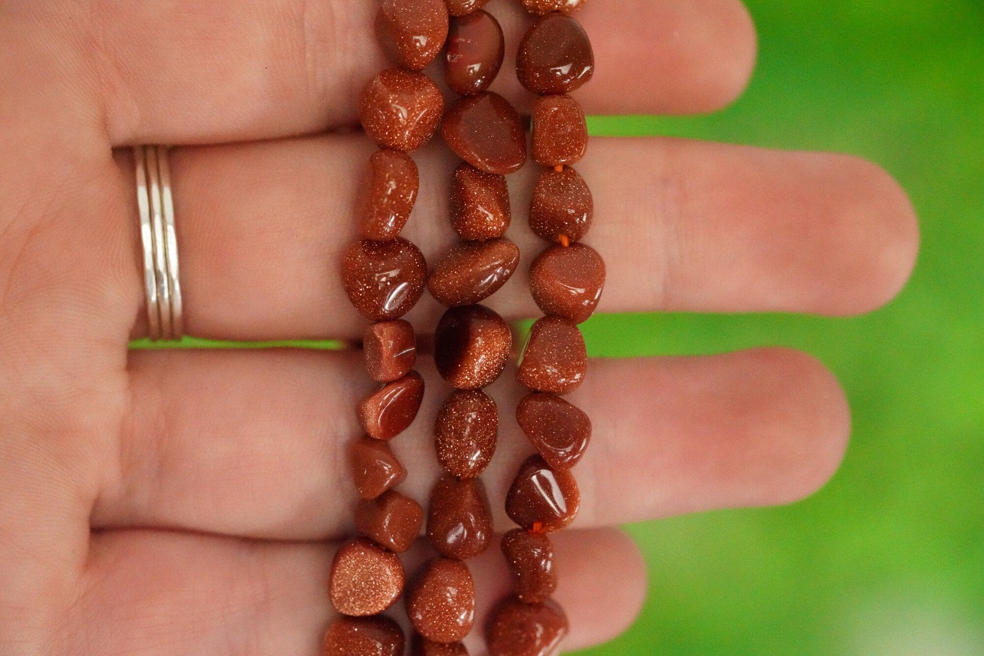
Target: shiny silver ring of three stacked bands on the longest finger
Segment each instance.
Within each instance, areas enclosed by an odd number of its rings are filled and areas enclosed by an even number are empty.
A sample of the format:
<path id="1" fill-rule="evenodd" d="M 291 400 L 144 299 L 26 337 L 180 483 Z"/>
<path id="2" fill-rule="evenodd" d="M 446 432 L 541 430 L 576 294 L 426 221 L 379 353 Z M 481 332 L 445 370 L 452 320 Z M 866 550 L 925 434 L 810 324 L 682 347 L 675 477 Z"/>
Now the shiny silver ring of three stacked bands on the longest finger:
<path id="1" fill-rule="evenodd" d="M 184 322 L 167 148 L 138 146 L 134 158 L 151 339 L 180 339 L 184 335 Z"/>

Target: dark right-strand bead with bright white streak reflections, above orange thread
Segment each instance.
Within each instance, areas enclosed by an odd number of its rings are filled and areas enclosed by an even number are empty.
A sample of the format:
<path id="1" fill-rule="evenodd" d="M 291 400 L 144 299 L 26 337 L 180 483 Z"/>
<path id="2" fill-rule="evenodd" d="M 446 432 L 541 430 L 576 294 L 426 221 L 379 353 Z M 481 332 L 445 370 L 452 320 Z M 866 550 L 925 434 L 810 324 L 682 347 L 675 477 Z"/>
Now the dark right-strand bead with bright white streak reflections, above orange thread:
<path id="1" fill-rule="evenodd" d="M 523 460 L 506 495 L 506 514 L 527 531 L 550 533 L 578 515 L 581 493 L 567 469 L 553 469 L 540 455 Z"/>

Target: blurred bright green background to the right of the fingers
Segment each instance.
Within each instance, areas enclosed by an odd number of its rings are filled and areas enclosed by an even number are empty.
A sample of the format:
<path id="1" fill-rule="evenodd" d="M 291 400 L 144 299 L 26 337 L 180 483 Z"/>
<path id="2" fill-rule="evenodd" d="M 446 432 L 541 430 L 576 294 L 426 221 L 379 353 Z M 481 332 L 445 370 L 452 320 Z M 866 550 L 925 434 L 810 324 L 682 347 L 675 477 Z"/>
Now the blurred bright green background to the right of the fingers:
<path id="1" fill-rule="evenodd" d="M 594 355 L 784 344 L 837 374 L 851 447 L 791 507 L 631 528 L 650 590 L 614 654 L 984 654 L 984 2 L 751 0 L 760 65 L 713 116 L 596 118 L 596 134 L 840 150 L 919 212 L 911 283 L 857 319 L 598 318 Z"/>

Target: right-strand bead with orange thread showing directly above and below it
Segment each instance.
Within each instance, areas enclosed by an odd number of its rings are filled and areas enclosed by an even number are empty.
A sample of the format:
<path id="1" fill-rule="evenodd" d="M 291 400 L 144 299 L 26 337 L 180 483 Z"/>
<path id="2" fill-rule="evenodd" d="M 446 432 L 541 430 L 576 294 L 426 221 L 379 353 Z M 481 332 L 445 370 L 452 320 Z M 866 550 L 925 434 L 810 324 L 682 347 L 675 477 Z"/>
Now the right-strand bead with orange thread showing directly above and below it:
<path id="1" fill-rule="evenodd" d="M 547 241 L 560 242 L 563 235 L 578 241 L 591 226 L 594 201 L 591 190 L 576 170 L 548 169 L 540 174 L 529 205 L 529 227 Z"/>

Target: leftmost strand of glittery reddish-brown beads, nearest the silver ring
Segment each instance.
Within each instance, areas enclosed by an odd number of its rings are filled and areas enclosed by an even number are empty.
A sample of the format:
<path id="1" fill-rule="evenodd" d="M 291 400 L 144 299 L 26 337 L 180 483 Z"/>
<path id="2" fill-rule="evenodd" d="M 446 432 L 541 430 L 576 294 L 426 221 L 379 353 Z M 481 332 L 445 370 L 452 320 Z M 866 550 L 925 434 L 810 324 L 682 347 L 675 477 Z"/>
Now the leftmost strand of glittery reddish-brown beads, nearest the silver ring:
<path id="1" fill-rule="evenodd" d="M 376 31 L 400 66 L 365 87 L 360 118 L 380 149 L 369 158 L 356 214 L 361 237 L 342 256 L 341 278 L 352 305 L 374 322 L 365 329 L 366 371 L 380 387 L 357 407 L 364 437 L 349 449 L 352 478 L 362 498 L 355 510 L 361 535 L 338 548 L 329 595 L 341 617 L 325 635 L 325 656 L 400 656 L 402 628 L 380 615 L 403 592 L 398 554 L 413 544 L 423 508 L 394 488 L 406 473 L 389 441 L 413 422 L 424 394 L 413 371 L 416 338 L 400 317 L 423 294 L 427 264 L 400 237 L 416 202 L 419 175 L 407 154 L 427 143 L 444 114 L 440 89 L 420 73 L 441 51 L 448 33 L 444 0 L 383 0 Z"/>

